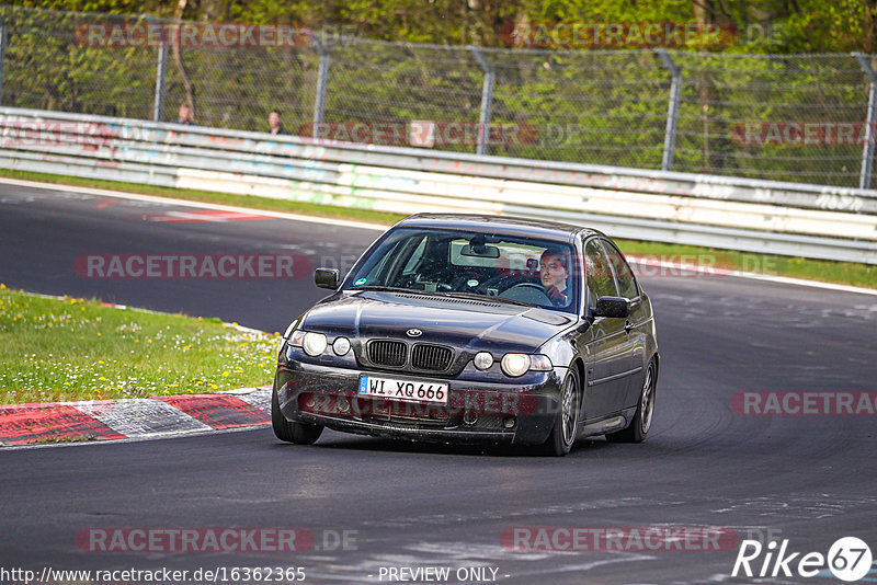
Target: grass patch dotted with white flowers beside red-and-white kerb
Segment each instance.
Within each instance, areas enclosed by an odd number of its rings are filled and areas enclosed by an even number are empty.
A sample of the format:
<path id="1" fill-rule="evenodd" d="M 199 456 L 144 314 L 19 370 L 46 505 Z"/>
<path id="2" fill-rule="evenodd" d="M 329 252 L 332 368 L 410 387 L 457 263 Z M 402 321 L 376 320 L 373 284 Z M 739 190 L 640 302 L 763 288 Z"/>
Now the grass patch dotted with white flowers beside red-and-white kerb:
<path id="1" fill-rule="evenodd" d="M 193 394 L 271 383 L 277 337 L 218 319 L 0 285 L 0 403 Z"/>

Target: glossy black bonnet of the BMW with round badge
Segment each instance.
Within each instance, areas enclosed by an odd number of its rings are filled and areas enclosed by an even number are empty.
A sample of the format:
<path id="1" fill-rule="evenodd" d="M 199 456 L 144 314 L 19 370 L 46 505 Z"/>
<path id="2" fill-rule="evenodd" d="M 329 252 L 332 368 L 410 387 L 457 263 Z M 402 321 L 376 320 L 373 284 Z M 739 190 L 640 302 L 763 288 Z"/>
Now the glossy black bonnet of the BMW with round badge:
<path id="1" fill-rule="evenodd" d="M 354 291 L 310 309 L 299 325 L 352 339 L 403 339 L 489 352 L 535 352 L 572 323 L 557 311 L 432 295 Z M 407 335 L 419 329 L 418 337 Z"/>

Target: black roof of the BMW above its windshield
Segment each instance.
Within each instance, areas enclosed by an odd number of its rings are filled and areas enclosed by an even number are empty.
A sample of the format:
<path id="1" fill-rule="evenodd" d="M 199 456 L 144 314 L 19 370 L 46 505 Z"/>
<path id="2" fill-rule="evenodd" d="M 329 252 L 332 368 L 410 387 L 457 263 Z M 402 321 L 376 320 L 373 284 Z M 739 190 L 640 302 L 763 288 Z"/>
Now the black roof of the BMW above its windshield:
<path id="1" fill-rule="evenodd" d="M 603 236 L 602 232 L 591 228 L 561 223 L 559 221 L 470 214 L 417 214 L 405 218 L 396 226 L 472 231 L 489 229 L 491 232 L 502 233 L 504 236 L 546 238 L 559 241 L 569 241 L 578 233 L 580 233 L 582 238 L 586 238 L 591 234 Z"/>

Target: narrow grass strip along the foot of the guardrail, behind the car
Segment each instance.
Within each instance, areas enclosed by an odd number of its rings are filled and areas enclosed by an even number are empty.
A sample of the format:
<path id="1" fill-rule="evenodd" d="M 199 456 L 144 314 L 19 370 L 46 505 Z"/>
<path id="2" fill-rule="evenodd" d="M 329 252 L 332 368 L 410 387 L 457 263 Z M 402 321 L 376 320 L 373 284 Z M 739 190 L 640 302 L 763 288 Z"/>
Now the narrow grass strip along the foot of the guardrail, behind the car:
<path id="1" fill-rule="evenodd" d="M 93 188 L 107 188 L 139 193 L 158 197 L 175 197 L 195 202 L 234 205 L 253 209 L 269 209 L 272 211 L 286 211 L 317 217 L 349 219 L 377 225 L 391 225 L 405 216 L 401 214 L 387 214 L 368 209 L 332 207 L 314 203 L 288 202 L 254 197 L 249 195 L 230 195 L 195 190 L 178 190 L 170 187 L 156 187 L 137 183 L 123 183 L 116 181 L 102 181 L 76 176 L 33 173 L 27 171 L 13 171 L 0 169 L 0 176 L 21 179 L 24 181 L 41 181 L 62 185 L 86 186 Z M 622 251 L 626 254 L 639 254 L 659 260 L 679 261 L 688 256 L 696 264 L 709 264 L 721 268 L 755 272 L 774 276 L 805 278 L 823 283 L 836 283 L 866 288 L 877 288 L 877 266 L 857 264 L 852 262 L 832 262 L 827 260 L 809 260 L 802 257 L 775 256 L 767 254 L 753 254 L 750 252 L 736 252 L 729 250 L 715 250 L 684 244 L 667 244 L 660 242 L 643 242 L 638 240 L 617 240 Z M 684 260 L 684 259 L 683 259 Z"/>

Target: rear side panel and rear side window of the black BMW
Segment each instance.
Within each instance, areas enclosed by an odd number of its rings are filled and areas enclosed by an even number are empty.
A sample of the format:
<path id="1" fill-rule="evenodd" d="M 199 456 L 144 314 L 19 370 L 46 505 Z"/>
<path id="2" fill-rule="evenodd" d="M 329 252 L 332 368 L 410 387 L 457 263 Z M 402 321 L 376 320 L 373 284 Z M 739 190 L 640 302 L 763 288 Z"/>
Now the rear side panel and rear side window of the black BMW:
<path id="1" fill-rule="evenodd" d="M 642 300 L 634 271 L 630 269 L 624 255 L 610 240 L 601 238 L 601 243 L 612 265 L 618 296 L 629 301 L 630 314 L 624 320 L 625 346 L 630 357 L 624 408 L 635 406 L 639 400 L 642 376 L 645 375 L 650 313 L 646 302 Z"/>

